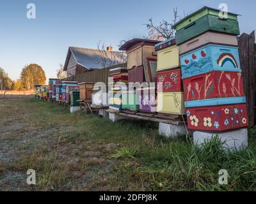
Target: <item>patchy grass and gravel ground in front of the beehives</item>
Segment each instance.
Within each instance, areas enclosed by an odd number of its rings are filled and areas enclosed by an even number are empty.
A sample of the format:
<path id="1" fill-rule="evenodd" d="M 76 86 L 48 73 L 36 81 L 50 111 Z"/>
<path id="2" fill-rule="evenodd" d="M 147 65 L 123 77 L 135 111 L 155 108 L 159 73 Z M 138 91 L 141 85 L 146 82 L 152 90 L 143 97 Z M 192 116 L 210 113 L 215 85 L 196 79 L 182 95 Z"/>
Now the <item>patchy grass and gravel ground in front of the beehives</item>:
<path id="1" fill-rule="evenodd" d="M 255 191 L 256 131 L 250 147 L 227 152 L 167 139 L 157 124 L 108 119 L 33 98 L 0 100 L 1 191 Z M 36 185 L 26 183 L 36 171 Z M 218 172 L 228 171 L 228 185 Z"/>

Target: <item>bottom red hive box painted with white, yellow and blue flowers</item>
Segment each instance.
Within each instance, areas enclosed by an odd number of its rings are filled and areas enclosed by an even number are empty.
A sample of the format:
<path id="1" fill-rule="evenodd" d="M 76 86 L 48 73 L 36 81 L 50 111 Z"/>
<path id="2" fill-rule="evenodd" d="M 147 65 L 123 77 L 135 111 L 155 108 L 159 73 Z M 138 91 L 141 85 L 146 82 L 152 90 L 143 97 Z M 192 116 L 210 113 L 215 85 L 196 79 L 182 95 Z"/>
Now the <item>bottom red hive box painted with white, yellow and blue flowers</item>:
<path id="1" fill-rule="evenodd" d="M 202 131 L 228 131 L 247 128 L 246 104 L 187 108 L 188 128 Z"/>

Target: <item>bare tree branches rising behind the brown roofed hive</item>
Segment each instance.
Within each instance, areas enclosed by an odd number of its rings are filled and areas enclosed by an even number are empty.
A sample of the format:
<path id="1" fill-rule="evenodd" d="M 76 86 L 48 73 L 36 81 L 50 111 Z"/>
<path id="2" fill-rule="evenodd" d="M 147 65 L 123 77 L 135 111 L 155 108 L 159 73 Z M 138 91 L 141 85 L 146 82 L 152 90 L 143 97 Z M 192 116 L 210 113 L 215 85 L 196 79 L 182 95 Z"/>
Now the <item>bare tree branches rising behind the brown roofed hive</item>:
<path id="1" fill-rule="evenodd" d="M 184 13 L 184 16 L 185 13 Z M 175 30 L 172 26 L 180 20 L 178 15 L 178 8 L 173 8 L 173 20 L 168 22 L 167 20 L 162 20 L 159 25 L 155 25 L 152 18 L 149 18 L 147 24 L 143 24 L 148 29 L 148 38 L 150 40 L 166 40 L 175 36 Z"/>

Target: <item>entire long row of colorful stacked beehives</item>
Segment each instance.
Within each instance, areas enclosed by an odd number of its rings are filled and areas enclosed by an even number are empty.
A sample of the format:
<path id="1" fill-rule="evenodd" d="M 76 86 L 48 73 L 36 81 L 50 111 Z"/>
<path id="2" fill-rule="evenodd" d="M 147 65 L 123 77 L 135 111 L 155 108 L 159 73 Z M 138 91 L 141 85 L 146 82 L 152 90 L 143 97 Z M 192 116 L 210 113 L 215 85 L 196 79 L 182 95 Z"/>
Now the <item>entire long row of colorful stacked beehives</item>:
<path id="1" fill-rule="evenodd" d="M 77 99 L 92 99 L 92 105 L 163 118 L 187 115 L 189 129 L 225 131 L 248 126 L 237 15 L 221 18 L 218 10 L 204 7 L 174 28 L 176 38 L 163 42 L 127 41 L 120 48 L 127 52 L 127 68 L 112 69 L 113 83 L 107 87 L 50 79 L 48 97 L 72 106 L 78 105 Z M 134 89 L 128 82 L 156 85 Z"/>

